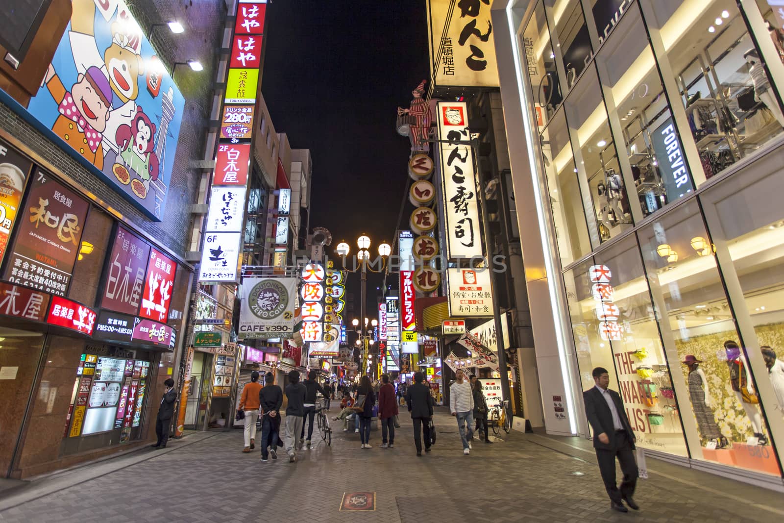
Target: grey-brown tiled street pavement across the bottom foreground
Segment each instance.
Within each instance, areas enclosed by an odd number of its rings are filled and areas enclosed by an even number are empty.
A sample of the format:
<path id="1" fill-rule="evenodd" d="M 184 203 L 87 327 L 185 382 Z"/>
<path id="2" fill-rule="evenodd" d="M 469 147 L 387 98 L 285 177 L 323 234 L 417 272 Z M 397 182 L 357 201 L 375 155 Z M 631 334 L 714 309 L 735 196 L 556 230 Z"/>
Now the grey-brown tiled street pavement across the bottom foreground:
<path id="1" fill-rule="evenodd" d="M 583 523 L 782 521 L 784 516 L 782 494 L 681 467 L 674 470 L 683 471 L 682 480 L 655 473 L 641 480 L 636 499 L 642 510 L 617 514 L 609 509 L 589 453 L 557 452 L 542 445 L 541 436 L 513 432 L 494 445 L 475 441 L 474 452 L 463 456 L 454 418 L 439 414 L 434 452 L 418 458 L 407 417 L 401 416 L 394 449 L 379 449 L 379 431 L 372 433 L 372 449 L 360 449 L 358 434 L 337 427 L 332 447 L 322 443 L 301 452 L 294 464 L 284 456 L 260 463 L 257 452 L 241 453 L 240 430 L 207 438 L 198 434 L 204 439 L 188 445 L 185 438 L 163 453 L 142 450 L 136 463 L 100 477 L 72 474 L 73 485 L 60 485 L 38 499 L 31 499 L 35 485 L 26 497 L 24 489 L 15 489 L 0 498 L 0 521 Z M 650 469 L 657 464 L 648 460 Z M 343 492 L 376 492 L 376 511 L 339 512 Z"/>

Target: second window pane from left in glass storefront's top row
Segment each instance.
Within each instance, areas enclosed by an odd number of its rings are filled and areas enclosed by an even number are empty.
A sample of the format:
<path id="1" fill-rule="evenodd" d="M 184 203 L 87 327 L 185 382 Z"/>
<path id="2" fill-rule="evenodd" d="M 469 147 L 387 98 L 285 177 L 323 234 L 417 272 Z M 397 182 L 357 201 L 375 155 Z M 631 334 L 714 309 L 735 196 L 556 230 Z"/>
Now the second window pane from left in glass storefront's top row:
<path id="1" fill-rule="evenodd" d="M 545 0 L 544 4 L 550 11 L 550 20 L 555 24 L 558 35 L 556 45 L 561 47 L 566 71 L 565 84 L 571 89 L 593 56 L 583 9 L 580 0 Z"/>

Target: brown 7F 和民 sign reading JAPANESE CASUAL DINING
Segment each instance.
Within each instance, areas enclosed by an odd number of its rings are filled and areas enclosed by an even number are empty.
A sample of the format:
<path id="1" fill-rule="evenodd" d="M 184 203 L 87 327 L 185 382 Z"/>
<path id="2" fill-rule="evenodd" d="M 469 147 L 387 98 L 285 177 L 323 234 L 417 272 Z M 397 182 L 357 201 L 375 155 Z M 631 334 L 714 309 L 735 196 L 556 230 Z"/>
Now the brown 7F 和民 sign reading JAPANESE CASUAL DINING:
<path id="1" fill-rule="evenodd" d="M 64 296 L 89 204 L 39 170 L 25 206 L 5 279 Z"/>

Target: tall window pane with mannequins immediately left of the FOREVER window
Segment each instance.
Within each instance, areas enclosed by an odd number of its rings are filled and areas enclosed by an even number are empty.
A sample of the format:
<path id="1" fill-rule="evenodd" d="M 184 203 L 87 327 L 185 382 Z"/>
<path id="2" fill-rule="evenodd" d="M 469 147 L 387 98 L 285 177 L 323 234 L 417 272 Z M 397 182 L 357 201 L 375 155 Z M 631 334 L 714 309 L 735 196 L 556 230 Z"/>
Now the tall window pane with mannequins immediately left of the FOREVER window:
<path id="1" fill-rule="evenodd" d="M 588 180 L 604 242 L 628 230 L 632 216 L 595 67 L 586 69 L 564 107 L 575 157 L 579 152 L 577 169 Z"/>

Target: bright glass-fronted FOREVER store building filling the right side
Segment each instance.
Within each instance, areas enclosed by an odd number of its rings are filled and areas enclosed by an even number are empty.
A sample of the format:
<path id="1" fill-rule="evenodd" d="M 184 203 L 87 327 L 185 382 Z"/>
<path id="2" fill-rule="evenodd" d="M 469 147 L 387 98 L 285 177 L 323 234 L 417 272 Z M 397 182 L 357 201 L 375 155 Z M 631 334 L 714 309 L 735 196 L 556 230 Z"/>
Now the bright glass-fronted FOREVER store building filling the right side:
<path id="1" fill-rule="evenodd" d="M 782 489 L 776 4 L 513 0 L 492 19 L 546 429 L 590 436 L 601 366 L 646 452 Z"/>

